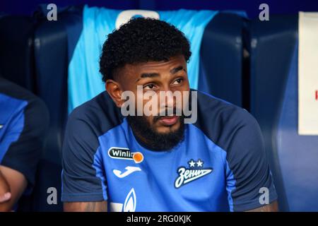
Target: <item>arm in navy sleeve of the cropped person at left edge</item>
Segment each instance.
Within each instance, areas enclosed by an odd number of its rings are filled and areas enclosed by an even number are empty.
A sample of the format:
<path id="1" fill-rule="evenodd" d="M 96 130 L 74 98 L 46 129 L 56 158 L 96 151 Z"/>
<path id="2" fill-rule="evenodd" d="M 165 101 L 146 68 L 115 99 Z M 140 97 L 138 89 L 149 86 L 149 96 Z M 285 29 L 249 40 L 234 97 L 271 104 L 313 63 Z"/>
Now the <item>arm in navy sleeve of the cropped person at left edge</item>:
<path id="1" fill-rule="evenodd" d="M 0 211 L 11 211 L 26 189 L 32 190 L 49 124 L 49 114 L 44 102 L 33 97 L 23 103 L 17 105 L 19 107 L 7 121 L 0 143 L 0 186 L 3 196 L 10 194 L 9 198 L 3 197 L 6 201 L 0 203 Z M 6 107 L 4 105 L 11 105 L 11 102 L 3 102 L 2 105 Z"/>

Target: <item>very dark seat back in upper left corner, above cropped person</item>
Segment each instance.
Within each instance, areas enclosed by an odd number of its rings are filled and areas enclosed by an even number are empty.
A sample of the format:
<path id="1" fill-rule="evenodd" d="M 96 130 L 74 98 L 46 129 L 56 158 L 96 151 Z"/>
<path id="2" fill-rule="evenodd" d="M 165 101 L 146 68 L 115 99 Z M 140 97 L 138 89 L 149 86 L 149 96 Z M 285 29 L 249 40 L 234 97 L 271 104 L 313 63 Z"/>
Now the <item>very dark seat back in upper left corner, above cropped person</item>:
<path id="1" fill-rule="evenodd" d="M 33 34 L 28 16 L 0 17 L 0 75 L 35 93 Z"/>

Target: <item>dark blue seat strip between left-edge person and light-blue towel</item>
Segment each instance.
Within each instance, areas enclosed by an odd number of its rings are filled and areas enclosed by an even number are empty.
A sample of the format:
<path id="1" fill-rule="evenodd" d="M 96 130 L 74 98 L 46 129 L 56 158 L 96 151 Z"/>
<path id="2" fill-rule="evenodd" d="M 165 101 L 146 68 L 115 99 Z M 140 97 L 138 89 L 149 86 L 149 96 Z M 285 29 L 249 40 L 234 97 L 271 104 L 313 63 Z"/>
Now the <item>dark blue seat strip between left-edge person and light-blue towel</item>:
<path id="1" fill-rule="evenodd" d="M 76 20 L 64 8 L 57 21 L 48 21 L 45 12 L 37 11 L 35 30 L 35 73 L 37 93 L 45 101 L 50 113 L 50 126 L 37 171 L 37 184 L 33 193 L 33 211 L 61 211 L 61 145 L 67 121 L 67 34 L 65 23 Z M 73 17 L 74 16 L 74 17 Z M 47 189 L 57 189 L 57 204 L 47 202 Z"/>

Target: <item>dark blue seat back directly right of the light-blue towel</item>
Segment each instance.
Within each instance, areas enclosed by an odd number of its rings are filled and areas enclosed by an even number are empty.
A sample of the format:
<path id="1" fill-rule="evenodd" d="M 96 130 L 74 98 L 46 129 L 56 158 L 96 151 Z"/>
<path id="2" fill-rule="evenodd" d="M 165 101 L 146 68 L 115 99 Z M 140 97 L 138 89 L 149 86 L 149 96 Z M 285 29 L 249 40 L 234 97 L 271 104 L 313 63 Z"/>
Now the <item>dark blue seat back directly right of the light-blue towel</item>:
<path id="1" fill-rule="evenodd" d="M 243 56 L 246 24 L 244 17 L 226 12 L 208 23 L 201 42 L 198 90 L 248 109 Z"/>

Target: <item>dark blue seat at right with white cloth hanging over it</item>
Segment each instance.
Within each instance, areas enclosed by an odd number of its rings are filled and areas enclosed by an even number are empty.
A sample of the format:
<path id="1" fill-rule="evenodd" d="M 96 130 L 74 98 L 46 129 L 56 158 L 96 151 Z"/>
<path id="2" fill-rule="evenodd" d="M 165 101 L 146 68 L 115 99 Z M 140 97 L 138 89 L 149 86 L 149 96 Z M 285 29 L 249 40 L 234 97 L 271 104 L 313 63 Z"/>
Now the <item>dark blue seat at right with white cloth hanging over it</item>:
<path id="1" fill-rule="evenodd" d="M 280 210 L 317 211 L 318 136 L 298 135 L 298 15 L 250 25 L 251 112 L 264 134 Z"/>

